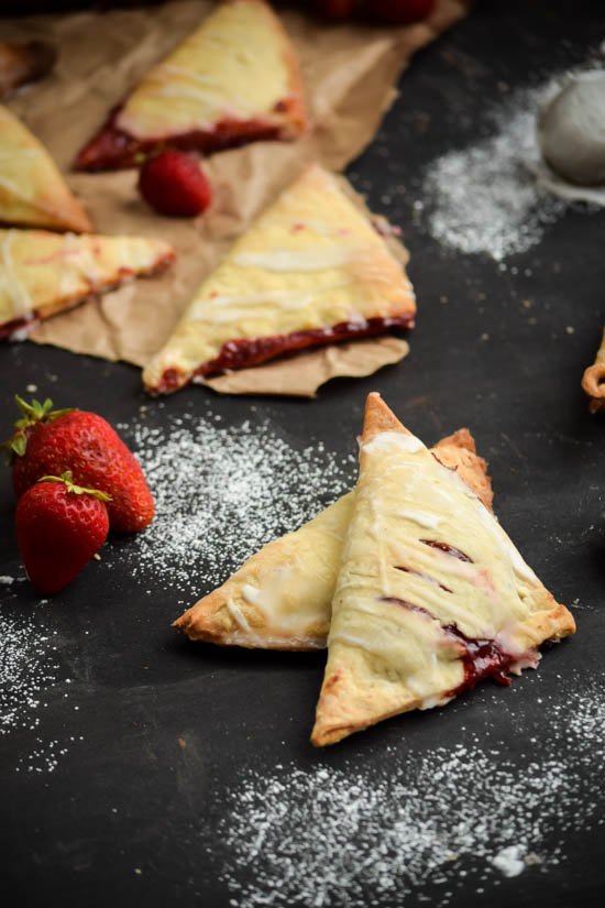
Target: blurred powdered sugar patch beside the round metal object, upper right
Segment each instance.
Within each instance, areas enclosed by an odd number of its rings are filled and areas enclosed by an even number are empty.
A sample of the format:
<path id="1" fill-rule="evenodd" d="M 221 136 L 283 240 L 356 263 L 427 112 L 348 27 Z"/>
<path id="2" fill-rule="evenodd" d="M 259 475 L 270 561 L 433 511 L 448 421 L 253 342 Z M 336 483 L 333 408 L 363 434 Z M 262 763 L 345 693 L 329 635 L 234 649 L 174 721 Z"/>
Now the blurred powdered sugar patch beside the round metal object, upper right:
<path id="1" fill-rule="evenodd" d="M 542 192 L 536 114 L 552 83 L 517 91 L 493 112 L 494 133 L 433 161 L 424 182 L 427 225 L 440 242 L 497 262 L 540 242 L 566 203 Z"/>

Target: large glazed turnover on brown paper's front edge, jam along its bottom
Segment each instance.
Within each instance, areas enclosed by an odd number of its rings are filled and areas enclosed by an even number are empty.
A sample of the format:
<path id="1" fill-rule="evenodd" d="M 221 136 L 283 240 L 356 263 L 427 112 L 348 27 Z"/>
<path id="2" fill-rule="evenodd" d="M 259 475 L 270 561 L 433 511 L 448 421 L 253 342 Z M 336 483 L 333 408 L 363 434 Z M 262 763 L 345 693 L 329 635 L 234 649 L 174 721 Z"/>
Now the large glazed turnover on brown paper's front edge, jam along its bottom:
<path id="1" fill-rule="evenodd" d="M 338 180 L 311 166 L 201 284 L 143 372 L 151 393 L 282 353 L 414 325 L 402 264 Z"/>

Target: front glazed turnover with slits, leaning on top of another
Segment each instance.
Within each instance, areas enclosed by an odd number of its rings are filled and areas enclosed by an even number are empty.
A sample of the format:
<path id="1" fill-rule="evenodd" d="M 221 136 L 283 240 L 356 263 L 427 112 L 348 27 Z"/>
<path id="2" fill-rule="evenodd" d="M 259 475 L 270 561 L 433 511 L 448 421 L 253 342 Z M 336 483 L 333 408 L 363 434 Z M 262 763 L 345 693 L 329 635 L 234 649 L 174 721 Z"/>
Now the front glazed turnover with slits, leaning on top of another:
<path id="1" fill-rule="evenodd" d="M 312 743 L 507 683 L 574 630 L 483 502 L 371 394 Z"/>

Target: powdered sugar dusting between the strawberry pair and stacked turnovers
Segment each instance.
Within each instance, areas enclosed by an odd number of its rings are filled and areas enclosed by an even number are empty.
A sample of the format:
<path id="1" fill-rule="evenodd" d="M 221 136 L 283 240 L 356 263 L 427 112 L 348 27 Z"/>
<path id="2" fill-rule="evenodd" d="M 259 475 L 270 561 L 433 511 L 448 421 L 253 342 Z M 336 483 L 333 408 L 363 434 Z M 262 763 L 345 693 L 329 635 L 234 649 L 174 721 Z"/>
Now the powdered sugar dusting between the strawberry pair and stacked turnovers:
<path id="1" fill-rule="evenodd" d="M 223 427 L 216 417 L 191 414 L 163 428 L 121 429 L 140 452 L 156 516 L 114 553 L 142 583 L 182 594 L 221 583 L 353 481 L 353 456 L 338 459 L 320 442 L 297 450 L 267 420 Z"/>

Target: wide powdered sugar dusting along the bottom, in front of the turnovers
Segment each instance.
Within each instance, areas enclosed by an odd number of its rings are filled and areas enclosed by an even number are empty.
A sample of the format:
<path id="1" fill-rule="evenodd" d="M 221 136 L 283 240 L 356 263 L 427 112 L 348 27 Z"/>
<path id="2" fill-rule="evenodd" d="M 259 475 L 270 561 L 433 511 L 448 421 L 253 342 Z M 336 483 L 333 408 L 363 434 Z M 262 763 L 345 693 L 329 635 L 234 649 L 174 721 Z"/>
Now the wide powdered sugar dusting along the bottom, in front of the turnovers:
<path id="1" fill-rule="evenodd" d="M 244 772 L 208 847 L 230 904 L 403 908 L 438 887 L 448 905 L 457 888 L 560 864 L 575 833 L 605 822 L 605 690 L 562 696 L 540 743 L 517 719 L 516 757 L 485 729 L 453 750 L 387 747 L 363 769 Z"/>

